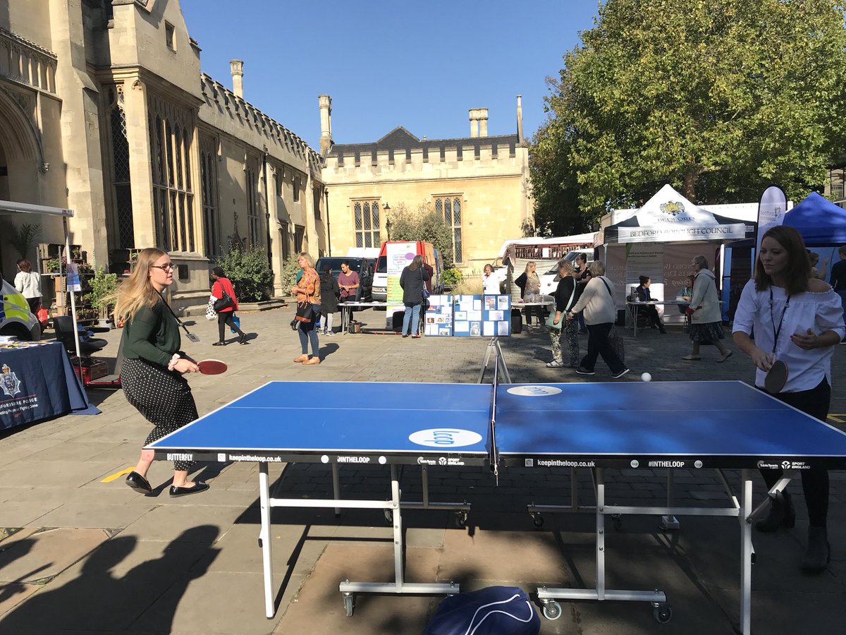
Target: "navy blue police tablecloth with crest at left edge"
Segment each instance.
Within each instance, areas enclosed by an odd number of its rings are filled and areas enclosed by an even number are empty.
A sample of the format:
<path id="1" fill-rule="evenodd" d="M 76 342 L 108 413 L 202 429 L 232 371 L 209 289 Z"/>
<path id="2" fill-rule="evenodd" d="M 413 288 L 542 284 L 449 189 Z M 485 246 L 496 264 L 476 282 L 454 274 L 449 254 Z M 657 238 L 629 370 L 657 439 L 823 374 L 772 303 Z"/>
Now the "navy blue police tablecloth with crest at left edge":
<path id="1" fill-rule="evenodd" d="M 0 430 L 74 414 L 99 414 L 58 342 L 0 348 Z"/>

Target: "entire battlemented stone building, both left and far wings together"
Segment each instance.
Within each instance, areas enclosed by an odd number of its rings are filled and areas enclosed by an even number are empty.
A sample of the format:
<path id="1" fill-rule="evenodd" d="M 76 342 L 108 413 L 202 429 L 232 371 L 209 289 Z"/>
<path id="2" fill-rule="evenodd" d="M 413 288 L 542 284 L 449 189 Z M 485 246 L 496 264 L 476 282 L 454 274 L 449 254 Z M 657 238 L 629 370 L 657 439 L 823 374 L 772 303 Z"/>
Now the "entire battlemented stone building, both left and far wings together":
<path id="1" fill-rule="evenodd" d="M 94 268 L 169 251 L 184 312 L 205 306 L 210 261 L 231 240 L 264 248 L 278 272 L 297 251 L 378 246 L 387 202 L 422 201 L 453 227 L 457 266 L 481 268 L 530 218 L 519 106 L 516 135 L 488 137 L 475 109 L 466 139 L 399 128 L 335 145 L 321 96 L 317 152 L 247 100 L 243 62 L 231 87 L 203 73 L 189 31 L 178 0 L 0 2 L 0 201 L 73 209 L 70 242 Z M 39 242 L 63 242 L 59 219 L 37 222 Z M 17 257 L 0 235 L 3 278 Z"/>

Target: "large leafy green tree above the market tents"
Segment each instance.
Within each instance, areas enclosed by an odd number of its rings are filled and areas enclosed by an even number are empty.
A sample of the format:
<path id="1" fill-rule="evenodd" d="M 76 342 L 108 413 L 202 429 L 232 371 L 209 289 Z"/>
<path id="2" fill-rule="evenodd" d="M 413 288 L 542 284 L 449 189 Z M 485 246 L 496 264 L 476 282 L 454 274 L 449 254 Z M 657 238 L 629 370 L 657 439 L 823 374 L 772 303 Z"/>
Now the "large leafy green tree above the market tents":
<path id="1" fill-rule="evenodd" d="M 536 200 L 593 220 L 667 182 L 694 202 L 805 196 L 842 153 L 843 20 L 830 0 L 607 0 L 552 81 Z"/>

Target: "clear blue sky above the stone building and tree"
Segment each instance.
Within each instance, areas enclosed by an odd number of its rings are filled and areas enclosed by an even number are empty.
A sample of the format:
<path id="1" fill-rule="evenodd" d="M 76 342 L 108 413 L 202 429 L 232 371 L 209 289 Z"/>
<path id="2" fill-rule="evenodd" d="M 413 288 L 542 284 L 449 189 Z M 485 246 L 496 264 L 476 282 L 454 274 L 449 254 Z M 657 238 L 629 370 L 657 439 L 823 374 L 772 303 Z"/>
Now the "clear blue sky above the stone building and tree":
<path id="1" fill-rule="evenodd" d="M 598 0 L 427 3 L 382 0 L 181 0 L 201 68 L 318 152 L 317 96 L 332 97 L 336 143 L 376 141 L 398 125 L 429 139 L 470 135 L 469 108 L 488 108 L 488 134 L 527 137 L 546 120 L 547 75 L 590 29 Z"/>

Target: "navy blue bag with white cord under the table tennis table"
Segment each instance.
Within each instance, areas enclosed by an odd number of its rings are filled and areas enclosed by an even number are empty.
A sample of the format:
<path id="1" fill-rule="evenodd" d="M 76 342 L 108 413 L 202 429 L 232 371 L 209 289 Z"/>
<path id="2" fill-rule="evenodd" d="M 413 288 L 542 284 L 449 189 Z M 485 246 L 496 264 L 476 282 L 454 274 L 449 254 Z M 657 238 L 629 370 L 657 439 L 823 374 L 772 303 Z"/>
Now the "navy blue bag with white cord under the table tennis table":
<path id="1" fill-rule="evenodd" d="M 451 595 L 422 635 L 537 635 L 541 617 L 523 589 L 487 587 Z"/>

